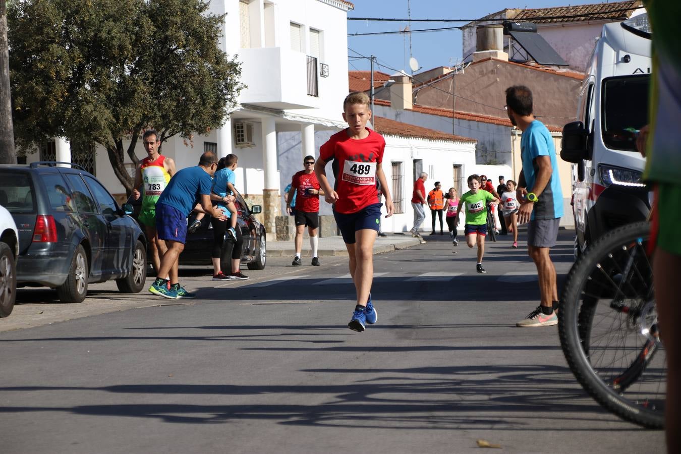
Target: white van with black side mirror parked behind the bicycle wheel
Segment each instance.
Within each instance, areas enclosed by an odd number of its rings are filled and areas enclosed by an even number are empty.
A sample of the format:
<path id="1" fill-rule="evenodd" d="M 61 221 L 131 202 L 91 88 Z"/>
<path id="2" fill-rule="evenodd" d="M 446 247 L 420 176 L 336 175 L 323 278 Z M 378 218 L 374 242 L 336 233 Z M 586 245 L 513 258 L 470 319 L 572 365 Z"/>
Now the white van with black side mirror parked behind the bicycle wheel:
<path id="1" fill-rule="evenodd" d="M 560 157 L 573 165 L 575 255 L 603 233 L 645 220 L 645 159 L 636 150 L 648 122 L 648 14 L 603 26 L 582 82 L 577 120 L 563 128 Z"/>

